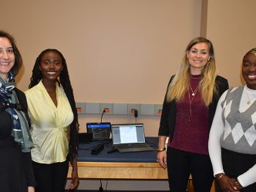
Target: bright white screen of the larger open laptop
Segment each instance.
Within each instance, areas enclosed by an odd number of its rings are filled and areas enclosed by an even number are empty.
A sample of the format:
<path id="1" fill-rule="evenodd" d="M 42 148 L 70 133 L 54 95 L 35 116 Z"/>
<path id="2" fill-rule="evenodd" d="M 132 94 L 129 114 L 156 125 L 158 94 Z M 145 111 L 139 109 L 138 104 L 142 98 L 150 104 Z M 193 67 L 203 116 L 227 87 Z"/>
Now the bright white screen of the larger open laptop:
<path id="1" fill-rule="evenodd" d="M 113 124 L 113 144 L 145 143 L 143 123 Z"/>

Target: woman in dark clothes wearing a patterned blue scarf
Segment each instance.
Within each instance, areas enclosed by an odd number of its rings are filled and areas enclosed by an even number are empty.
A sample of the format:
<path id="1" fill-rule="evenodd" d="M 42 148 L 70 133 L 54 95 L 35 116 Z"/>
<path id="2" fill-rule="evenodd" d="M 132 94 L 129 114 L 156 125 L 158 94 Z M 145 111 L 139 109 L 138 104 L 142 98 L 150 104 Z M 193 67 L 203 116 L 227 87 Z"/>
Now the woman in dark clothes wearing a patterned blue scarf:
<path id="1" fill-rule="evenodd" d="M 28 106 L 14 79 L 21 66 L 14 39 L 0 31 L 0 191 L 5 192 L 35 192 Z"/>

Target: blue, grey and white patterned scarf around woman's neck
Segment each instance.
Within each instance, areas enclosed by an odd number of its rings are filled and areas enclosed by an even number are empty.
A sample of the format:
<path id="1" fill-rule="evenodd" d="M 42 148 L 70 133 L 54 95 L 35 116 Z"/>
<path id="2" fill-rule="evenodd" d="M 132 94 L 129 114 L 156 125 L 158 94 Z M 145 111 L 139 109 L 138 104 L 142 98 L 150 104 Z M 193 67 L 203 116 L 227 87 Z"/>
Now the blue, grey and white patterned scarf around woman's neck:
<path id="1" fill-rule="evenodd" d="M 15 142 L 22 148 L 23 152 L 29 152 L 33 146 L 32 138 L 29 134 L 29 123 L 22 112 L 22 106 L 19 104 L 19 99 L 14 91 L 15 79 L 12 72 L 8 73 L 8 80 L 5 81 L 0 76 L 0 96 L 2 97 L 2 106 L 12 118 L 12 136 Z"/>

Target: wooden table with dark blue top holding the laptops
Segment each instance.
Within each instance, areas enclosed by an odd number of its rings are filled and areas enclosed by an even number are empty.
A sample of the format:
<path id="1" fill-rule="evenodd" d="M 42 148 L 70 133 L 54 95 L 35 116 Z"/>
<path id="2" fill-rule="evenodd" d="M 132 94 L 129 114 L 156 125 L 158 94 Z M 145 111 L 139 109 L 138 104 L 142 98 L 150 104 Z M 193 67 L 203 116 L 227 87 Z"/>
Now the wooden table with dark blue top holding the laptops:
<path id="1" fill-rule="evenodd" d="M 147 137 L 147 143 L 157 148 L 157 137 Z M 105 143 L 98 155 L 91 154 L 91 147 L 99 141 L 79 145 L 78 171 L 80 179 L 167 180 L 167 170 L 157 163 L 156 151 L 133 153 L 107 153 L 112 143 Z M 86 150 L 82 150 L 86 149 Z M 70 178 L 72 169 L 69 169 Z"/>

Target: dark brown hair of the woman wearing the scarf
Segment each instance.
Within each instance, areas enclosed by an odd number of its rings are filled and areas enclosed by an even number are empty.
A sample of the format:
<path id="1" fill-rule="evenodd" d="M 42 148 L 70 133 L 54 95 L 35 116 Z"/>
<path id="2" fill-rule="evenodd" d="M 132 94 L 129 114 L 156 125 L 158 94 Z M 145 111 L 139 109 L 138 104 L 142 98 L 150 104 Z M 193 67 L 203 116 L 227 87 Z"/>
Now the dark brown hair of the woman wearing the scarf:
<path id="1" fill-rule="evenodd" d="M 19 52 L 19 49 L 17 48 L 16 44 L 15 44 L 15 39 L 12 37 L 12 35 L 8 34 L 8 32 L 4 32 L 4 31 L 0 31 L 0 37 L 5 37 L 9 40 L 9 42 L 11 42 L 12 44 L 12 49 L 15 55 L 15 62 L 14 62 L 14 66 L 12 67 L 11 71 L 13 73 L 14 76 L 16 76 L 19 72 L 19 69 L 21 69 L 22 67 L 22 56 Z"/>

